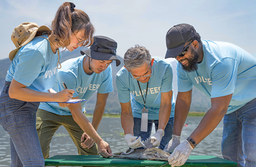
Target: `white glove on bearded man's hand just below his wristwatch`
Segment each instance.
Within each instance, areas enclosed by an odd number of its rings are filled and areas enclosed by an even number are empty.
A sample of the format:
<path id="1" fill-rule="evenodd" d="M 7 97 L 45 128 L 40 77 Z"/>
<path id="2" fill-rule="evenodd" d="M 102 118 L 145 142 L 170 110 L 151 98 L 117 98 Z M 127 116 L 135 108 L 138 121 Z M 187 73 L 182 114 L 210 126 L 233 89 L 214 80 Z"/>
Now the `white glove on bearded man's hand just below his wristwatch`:
<path id="1" fill-rule="evenodd" d="M 193 147 L 186 140 L 177 146 L 171 156 L 168 158 L 168 162 L 172 167 L 179 167 L 185 164 L 188 160 Z"/>

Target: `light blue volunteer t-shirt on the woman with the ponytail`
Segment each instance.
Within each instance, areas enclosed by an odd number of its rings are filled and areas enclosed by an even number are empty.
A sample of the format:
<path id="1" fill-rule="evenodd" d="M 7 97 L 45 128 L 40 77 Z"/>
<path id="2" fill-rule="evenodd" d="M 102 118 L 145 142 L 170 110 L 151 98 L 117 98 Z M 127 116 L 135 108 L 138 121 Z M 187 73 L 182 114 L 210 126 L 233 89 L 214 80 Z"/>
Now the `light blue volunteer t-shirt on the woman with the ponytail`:
<path id="1" fill-rule="evenodd" d="M 47 34 L 41 35 L 48 39 Z M 27 88 L 48 92 L 55 83 L 58 53 L 51 50 L 50 43 L 42 37 L 34 37 L 16 53 L 7 72 L 6 81 L 12 78 Z"/>

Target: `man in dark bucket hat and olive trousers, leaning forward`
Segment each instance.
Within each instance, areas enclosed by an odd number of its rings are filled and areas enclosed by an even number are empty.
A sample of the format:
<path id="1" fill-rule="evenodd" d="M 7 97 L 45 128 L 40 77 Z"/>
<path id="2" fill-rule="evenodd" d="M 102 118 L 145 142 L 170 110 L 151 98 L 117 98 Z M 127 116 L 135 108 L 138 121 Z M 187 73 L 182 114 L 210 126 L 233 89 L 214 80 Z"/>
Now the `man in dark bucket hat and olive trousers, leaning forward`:
<path id="1" fill-rule="evenodd" d="M 79 155 L 112 156 L 109 145 L 96 131 L 105 110 L 108 94 L 113 91 L 110 63 L 115 60 L 116 66 L 120 65 L 120 60 L 116 57 L 116 48 L 117 43 L 113 39 L 94 36 L 90 49 L 81 51 L 84 56 L 69 59 L 61 64 L 62 68 L 58 70 L 56 83 L 52 89 L 56 92 L 65 89 L 62 84 L 64 82 L 68 89 L 75 90 L 72 99 L 86 100 L 97 91 L 97 102 L 92 123 L 83 114 L 86 102 L 69 105 L 40 103 L 36 113 L 36 128 L 44 159 L 49 158 L 51 138 L 61 125 L 67 129 Z"/>

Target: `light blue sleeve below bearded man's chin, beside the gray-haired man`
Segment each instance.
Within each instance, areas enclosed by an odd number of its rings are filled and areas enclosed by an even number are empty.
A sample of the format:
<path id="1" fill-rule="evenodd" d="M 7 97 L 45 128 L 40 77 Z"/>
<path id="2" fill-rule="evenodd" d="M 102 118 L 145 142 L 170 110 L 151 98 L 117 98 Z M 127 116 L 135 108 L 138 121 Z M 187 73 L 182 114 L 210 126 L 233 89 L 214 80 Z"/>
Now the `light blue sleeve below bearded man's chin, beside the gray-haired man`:
<path id="1" fill-rule="evenodd" d="M 193 88 L 192 82 L 186 77 L 181 65 L 177 62 L 177 85 L 179 92 L 188 92 Z"/>

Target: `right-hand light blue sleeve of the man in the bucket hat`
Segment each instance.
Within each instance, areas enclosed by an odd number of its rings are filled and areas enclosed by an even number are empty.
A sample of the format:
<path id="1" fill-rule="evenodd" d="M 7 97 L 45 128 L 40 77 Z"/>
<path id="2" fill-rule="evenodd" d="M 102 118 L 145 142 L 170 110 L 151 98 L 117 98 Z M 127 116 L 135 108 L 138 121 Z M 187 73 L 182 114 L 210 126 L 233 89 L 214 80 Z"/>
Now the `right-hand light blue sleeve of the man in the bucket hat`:
<path id="1" fill-rule="evenodd" d="M 113 91 L 111 65 L 108 68 L 108 73 L 97 90 L 98 93 L 105 94 Z"/>

